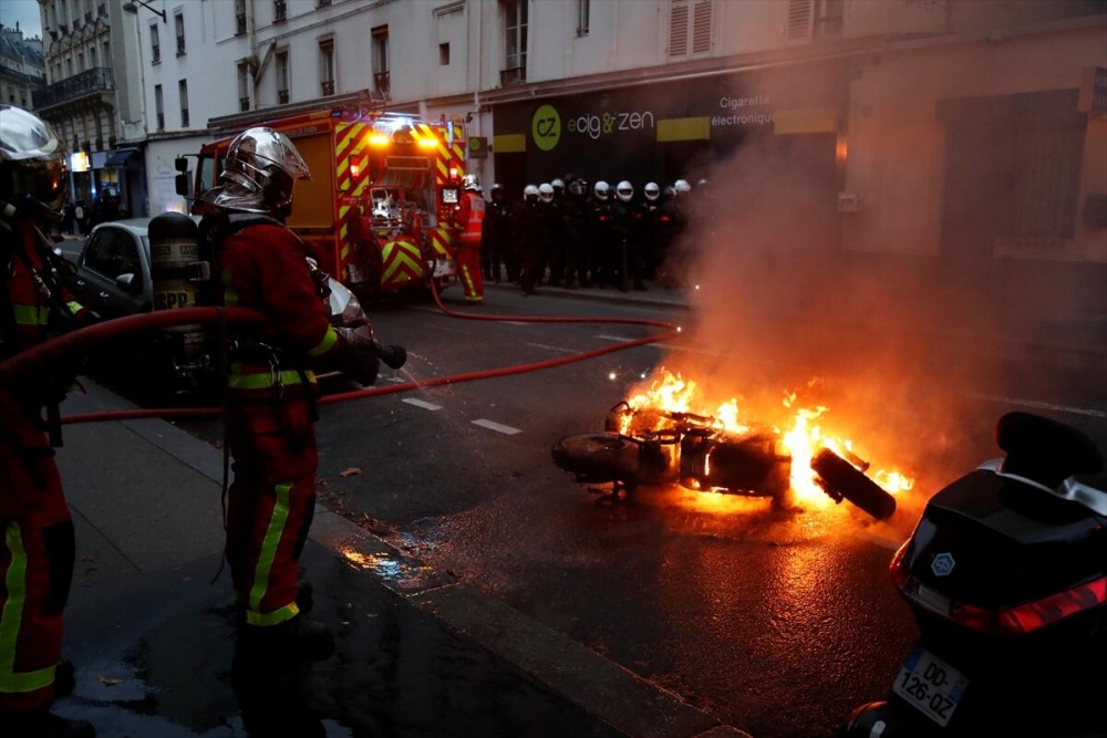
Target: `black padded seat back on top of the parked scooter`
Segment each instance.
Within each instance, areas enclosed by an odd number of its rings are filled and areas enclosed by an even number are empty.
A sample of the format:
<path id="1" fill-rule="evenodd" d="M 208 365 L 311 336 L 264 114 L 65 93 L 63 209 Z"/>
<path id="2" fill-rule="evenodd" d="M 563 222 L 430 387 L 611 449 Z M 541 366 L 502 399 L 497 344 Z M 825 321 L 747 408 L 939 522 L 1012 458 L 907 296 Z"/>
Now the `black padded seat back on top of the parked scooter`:
<path id="1" fill-rule="evenodd" d="M 1073 475 L 1098 474 L 1099 449 L 1076 428 L 1031 413 L 1007 413 L 995 425 L 995 443 L 1006 451 L 1003 470 L 1057 487 Z"/>

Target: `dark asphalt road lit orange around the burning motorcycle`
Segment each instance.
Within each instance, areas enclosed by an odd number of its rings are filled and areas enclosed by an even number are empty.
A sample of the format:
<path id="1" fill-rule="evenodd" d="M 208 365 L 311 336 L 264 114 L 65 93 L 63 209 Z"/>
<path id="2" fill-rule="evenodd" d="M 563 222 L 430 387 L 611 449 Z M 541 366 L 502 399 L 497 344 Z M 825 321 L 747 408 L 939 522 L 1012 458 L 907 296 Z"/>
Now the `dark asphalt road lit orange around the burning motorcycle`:
<path id="1" fill-rule="evenodd" d="M 447 299 L 461 308 L 454 292 Z M 775 511 L 679 489 L 600 506 L 552 465 L 550 447 L 602 429 L 608 407 L 656 365 L 739 366 L 747 383 L 779 395 L 825 368 L 819 356 L 831 347 L 858 356 L 835 362 L 829 381 L 848 385 L 850 371 L 863 374 L 859 346 L 881 346 L 817 326 L 776 331 L 805 336 L 807 358 L 797 364 L 795 351 L 697 343 L 684 311 L 503 291 L 489 291 L 480 310 L 668 319 L 690 337 L 325 407 L 318 425 L 324 502 L 755 736 L 831 735 L 852 707 L 883 696 L 915 637 L 889 582 L 892 551 L 929 495 L 999 455 L 991 428 L 1000 414 L 1053 415 L 1107 448 L 1107 372 L 1098 360 L 917 339 L 900 364 L 913 368 L 896 377 L 900 391 L 856 424 L 869 434 L 862 447 L 870 441 L 881 460 L 904 464 L 919 479 L 890 523 L 871 524 L 848 506 Z M 541 361 L 651 330 L 477 323 L 418 304 L 375 305 L 371 316 L 382 341 L 411 351 L 404 373 L 382 382 Z M 851 405 L 850 392 L 839 396 L 851 412 L 871 407 Z M 182 426 L 219 437 L 213 422 Z"/>

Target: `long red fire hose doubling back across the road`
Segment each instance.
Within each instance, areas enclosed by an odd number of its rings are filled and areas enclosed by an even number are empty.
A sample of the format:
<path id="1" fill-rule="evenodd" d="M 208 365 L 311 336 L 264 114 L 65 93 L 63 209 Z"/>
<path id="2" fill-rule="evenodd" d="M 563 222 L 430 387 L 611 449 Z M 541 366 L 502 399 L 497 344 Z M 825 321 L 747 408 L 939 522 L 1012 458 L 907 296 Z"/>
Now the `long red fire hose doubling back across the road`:
<path id="1" fill-rule="evenodd" d="M 665 341 L 675 336 L 680 329 L 674 329 L 672 323 L 659 320 L 637 319 L 637 318 L 576 318 L 576 316 L 545 316 L 545 315 L 475 315 L 462 313 L 446 308 L 438 297 L 436 285 L 432 280 L 432 293 L 438 309 L 449 318 L 493 322 L 516 322 L 516 323 L 603 323 L 623 325 L 648 325 L 653 328 L 668 329 L 663 333 L 623 341 L 591 351 L 582 351 L 567 356 L 559 356 L 541 362 L 529 364 L 515 364 L 499 368 L 482 370 L 478 372 L 465 372 L 447 376 L 431 377 L 417 382 L 404 382 L 382 387 L 365 387 L 352 392 L 342 392 L 323 395 L 319 399 L 320 405 L 359 399 L 361 397 L 375 397 L 377 395 L 391 395 L 413 389 L 427 387 L 439 387 L 448 384 L 462 384 L 464 382 L 477 382 L 479 380 L 492 380 L 515 374 L 537 372 L 556 366 L 563 366 L 576 362 L 594 358 L 604 354 L 611 354 L 635 346 L 642 346 L 659 341 Z M 28 372 L 42 368 L 50 364 L 55 364 L 60 360 L 91 349 L 92 346 L 112 339 L 131 335 L 143 331 L 172 328 L 175 325 L 189 325 L 195 323 L 210 324 L 226 321 L 228 324 L 260 324 L 268 322 L 268 316 L 258 310 L 248 308 L 183 308 L 178 310 L 166 310 L 141 315 L 130 315 L 110 321 L 104 321 L 95 325 L 79 329 L 64 335 L 45 341 L 37 346 L 32 346 L 19 354 L 0 363 L 0 385 L 7 385 L 14 377 Z M 99 423 L 104 420 L 130 420 L 135 418 L 187 418 L 187 417 L 209 417 L 219 415 L 223 412 L 219 407 L 162 407 L 162 408 L 138 408 L 126 410 L 108 410 L 102 413 L 84 413 L 80 415 L 66 415 L 61 418 L 63 424 L 74 423 Z"/>

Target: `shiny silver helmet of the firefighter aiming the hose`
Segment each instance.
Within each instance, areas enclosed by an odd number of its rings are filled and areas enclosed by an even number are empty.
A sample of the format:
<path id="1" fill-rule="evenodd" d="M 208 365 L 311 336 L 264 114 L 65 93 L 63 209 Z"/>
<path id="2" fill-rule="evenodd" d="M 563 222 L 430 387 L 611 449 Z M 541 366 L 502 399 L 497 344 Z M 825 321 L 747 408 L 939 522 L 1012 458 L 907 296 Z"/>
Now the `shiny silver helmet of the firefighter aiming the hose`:
<path id="1" fill-rule="evenodd" d="M 205 193 L 205 202 L 226 210 L 280 214 L 292 204 L 296 180 L 310 180 L 311 174 L 288 136 L 258 126 L 230 142 L 219 178 L 225 184 Z"/>

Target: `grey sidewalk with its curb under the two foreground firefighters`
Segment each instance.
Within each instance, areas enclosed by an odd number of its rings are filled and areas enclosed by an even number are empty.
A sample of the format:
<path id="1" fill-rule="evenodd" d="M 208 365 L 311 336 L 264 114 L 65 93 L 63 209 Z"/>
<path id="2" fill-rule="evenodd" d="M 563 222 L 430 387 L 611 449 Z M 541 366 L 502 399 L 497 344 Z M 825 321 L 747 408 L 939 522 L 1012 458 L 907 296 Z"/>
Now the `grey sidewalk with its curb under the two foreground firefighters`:
<path id="1" fill-rule="evenodd" d="M 130 406 L 89 383 L 66 414 Z M 247 735 L 230 683 L 234 607 L 221 454 L 157 419 L 66 426 L 76 527 L 56 711 L 102 738 Z M 327 736 L 745 736 L 498 600 L 317 508 L 303 567 L 338 652 L 308 672 Z"/>

